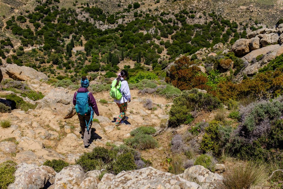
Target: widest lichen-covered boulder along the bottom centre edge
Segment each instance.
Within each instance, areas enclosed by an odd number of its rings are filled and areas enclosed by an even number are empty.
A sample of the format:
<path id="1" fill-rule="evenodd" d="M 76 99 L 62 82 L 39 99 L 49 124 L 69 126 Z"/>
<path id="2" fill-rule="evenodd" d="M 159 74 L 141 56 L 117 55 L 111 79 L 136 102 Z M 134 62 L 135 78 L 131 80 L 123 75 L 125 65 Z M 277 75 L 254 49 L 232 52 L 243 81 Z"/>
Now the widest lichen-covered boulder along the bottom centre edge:
<path id="1" fill-rule="evenodd" d="M 123 171 L 118 175 L 105 174 L 98 189 L 201 189 L 201 186 L 180 178 L 169 172 L 162 172 L 153 167 L 146 167 L 139 170 Z"/>

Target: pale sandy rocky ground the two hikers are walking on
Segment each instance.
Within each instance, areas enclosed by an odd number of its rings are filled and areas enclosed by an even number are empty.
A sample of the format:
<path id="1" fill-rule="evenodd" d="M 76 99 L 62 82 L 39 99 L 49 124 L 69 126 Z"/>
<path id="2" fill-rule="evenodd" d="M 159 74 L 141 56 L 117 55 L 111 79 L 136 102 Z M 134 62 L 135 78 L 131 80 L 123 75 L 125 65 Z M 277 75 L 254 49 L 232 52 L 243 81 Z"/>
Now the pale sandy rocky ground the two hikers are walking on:
<path id="1" fill-rule="evenodd" d="M 153 95 L 141 95 L 132 90 L 132 101 L 129 103 L 126 124 L 115 127 L 114 118 L 119 109 L 109 97 L 108 92 L 94 93 L 100 116 L 95 116 L 99 123 L 93 122 L 92 143 L 88 149 L 83 146 L 80 138 L 80 126 L 77 115 L 64 119 L 68 109 L 72 107 L 75 91 L 56 88 L 40 82 L 30 81 L 29 86 L 42 92 L 45 97 L 38 101 L 37 109 L 24 112 L 19 109 L 11 113 L 1 113 L 1 120 L 10 120 L 10 128 L 0 127 L 0 162 L 13 159 L 17 163 L 42 164 L 46 160 L 63 159 L 74 163 L 83 152 L 89 152 L 96 146 L 104 146 L 106 142 L 121 144 L 130 136 L 130 131 L 140 126 L 153 126 L 157 130 L 169 118 L 168 111 L 171 100 Z M 3 93 L 3 92 L 2 92 Z M 62 95 L 61 95 L 62 94 Z M 64 97 L 65 94 L 65 97 Z M 65 98 L 65 99 L 64 99 Z M 101 99 L 108 103 L 100 103 Z M 144 101 L 151 99 L 155 110 L 143 107 Z M 170 132 L 156 136 L 159 148 L 143 152 L 145 158 L 154 162 L 154 167 L 163 169 L 162 161 L 168 151 Z"/>

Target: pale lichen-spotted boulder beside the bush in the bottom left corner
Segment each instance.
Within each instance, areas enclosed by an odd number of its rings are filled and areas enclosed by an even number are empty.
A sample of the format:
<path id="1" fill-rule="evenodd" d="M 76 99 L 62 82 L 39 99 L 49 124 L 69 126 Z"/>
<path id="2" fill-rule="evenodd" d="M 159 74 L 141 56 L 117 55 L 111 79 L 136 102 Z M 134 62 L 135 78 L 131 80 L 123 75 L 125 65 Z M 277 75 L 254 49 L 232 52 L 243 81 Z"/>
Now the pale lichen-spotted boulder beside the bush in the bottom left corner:
<path id="1" fill-rule="evenodd" d="M 15 182 L 8 189 L 41 189 L 54 183 L 56 172 L 51 167 L 22 163 L 16 169 Z"/>

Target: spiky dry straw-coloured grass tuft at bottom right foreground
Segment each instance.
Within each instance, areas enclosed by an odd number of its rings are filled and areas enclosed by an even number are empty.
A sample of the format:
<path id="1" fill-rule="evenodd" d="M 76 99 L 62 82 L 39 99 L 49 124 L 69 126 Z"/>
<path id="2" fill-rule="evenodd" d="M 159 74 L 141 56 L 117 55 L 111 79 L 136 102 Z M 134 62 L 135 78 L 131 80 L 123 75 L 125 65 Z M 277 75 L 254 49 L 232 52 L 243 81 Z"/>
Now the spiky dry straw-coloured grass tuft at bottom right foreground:
<path id="1" fill-rule="evenodd" d="M 259 162 L 235 165 L 223 175 L 221 189 L 249 189 L 267 181 L 266 166 Z"/>

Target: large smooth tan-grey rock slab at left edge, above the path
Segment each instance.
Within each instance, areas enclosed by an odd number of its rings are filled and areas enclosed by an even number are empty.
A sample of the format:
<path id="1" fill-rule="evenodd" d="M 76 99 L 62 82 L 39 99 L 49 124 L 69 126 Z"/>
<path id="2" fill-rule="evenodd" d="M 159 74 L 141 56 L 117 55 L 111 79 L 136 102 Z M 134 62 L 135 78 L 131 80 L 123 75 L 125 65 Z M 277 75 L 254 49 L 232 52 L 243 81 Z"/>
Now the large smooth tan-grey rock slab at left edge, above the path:
<path id="1" fill-rule="evenodd" d="M 14 80 L 26 81 L 31 79 L 48 79 L 47 75 L 44 73 L 38 72 L 33 68 L 27 66 L 18 66 L 16 64 L 7 64 L 6 74 Z"/>

